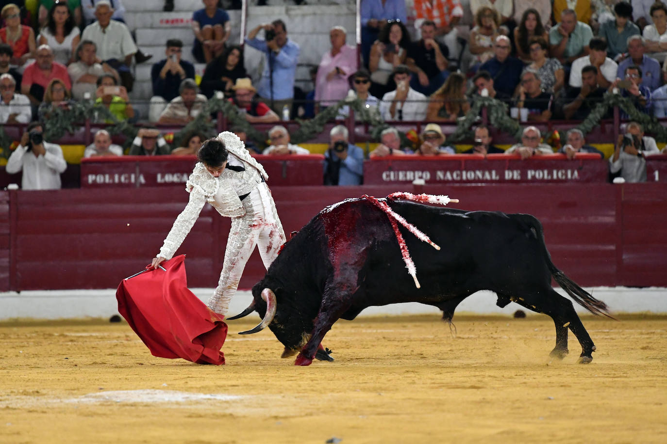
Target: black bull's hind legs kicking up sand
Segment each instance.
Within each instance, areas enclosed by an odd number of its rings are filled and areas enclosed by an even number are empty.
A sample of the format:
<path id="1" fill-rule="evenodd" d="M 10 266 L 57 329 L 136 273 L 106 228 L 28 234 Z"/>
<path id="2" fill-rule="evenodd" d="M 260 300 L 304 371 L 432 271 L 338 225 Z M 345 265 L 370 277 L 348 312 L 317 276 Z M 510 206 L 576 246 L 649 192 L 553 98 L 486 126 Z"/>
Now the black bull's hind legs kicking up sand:
<path id="1" fill-rule="evenodd" d="M 579 362 L 589 363 L 592 361 L 592 353 L 595 351 L 595 345 L 588 332 L 586 332 L 584 324 L 582 324 L 579 316 L 574 311 L 572 301 L 560 296 L 552 288 L 549 288 L 542 295 L 528 296 L 523 299 L 518 298 L 518 300 L 515 298 L 514 300 L 518 304 L 528 308 L 528 310 L 546 314 L 554 320 L 556 326 L 556 347 L 552 350 L 551 355 L 564 357 L 568 353 L 567 329 L 570 328 L 582 346 Z"/>

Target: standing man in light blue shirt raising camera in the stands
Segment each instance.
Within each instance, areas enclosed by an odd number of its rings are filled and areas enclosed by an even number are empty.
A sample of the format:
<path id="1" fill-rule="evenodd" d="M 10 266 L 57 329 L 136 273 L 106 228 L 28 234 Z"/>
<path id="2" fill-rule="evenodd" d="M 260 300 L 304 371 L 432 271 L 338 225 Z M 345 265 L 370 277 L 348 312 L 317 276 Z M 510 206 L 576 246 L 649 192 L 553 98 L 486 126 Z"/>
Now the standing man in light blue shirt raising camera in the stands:
<path id="1" fill-rule="evenodd" d="M 269 38 L 257 39 L 261 29 Z M 266 61 L 257 93 L 261 101 L 282 116 L 283 107 L 291 110 L 294 98 L 294 76 L 301 52 L 299 45 L 287 39 L 287 28 L 282 20 L 255 27 L 245 38 L 245 43 L 264 53 Z"/>

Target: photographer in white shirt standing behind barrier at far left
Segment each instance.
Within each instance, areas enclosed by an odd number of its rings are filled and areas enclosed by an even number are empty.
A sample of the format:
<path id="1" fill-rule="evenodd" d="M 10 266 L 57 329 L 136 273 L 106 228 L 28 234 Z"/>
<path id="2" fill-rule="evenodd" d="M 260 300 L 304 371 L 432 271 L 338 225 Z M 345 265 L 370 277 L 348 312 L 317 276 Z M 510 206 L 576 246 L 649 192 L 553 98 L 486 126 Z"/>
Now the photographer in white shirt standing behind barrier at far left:
<path id="1" fill-rule="evenodd" d="M 43 125 L 32 122 L 21 136 L 21 144 L 11 153 L 5 170 L 15 174 L 23 170 L 21 188 L 24 190 L 58 190 L 60 174 L 67 169 L 59 145 L 45 142 Z"/>

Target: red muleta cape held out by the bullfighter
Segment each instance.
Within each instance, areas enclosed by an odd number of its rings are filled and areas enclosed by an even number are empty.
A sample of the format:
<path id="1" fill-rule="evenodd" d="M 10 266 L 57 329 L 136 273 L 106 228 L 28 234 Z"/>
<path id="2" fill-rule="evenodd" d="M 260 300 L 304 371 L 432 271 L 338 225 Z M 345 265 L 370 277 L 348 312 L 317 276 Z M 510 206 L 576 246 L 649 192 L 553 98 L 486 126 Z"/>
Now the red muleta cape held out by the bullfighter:
<path id="1" fill-rule="evenodd" d="M 187 289 L 185 255 L 123 279 L 116 291 L 118 312 L 153 356 L 182 357 L 199 364 L 221 365 L 227 324 Z"/>

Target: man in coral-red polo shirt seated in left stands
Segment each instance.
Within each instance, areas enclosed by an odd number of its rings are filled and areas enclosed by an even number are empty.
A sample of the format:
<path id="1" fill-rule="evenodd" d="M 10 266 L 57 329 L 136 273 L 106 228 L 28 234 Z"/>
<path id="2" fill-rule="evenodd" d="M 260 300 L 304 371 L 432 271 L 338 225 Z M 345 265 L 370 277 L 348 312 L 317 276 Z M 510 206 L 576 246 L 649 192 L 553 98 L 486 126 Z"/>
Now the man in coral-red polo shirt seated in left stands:
<path id="1" fill-rule="evenodd" d="M 65 65 L 54 62 L 51 48 L 48 45 L 41 45 L 37 48 L 37 61 L 23 71 L 21 93 L 30 99 L 34 107 L 39 107 L 44 99 L 45 88 L 53 79 L 63 81 L 67 89 L 72 87 Z"/>

